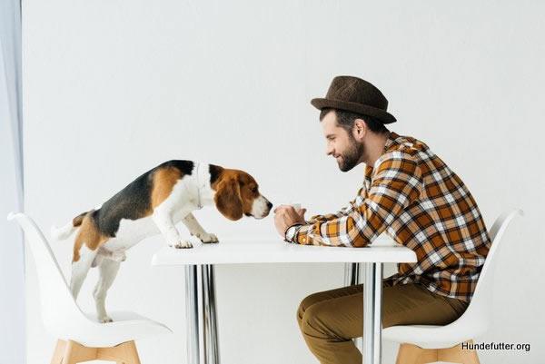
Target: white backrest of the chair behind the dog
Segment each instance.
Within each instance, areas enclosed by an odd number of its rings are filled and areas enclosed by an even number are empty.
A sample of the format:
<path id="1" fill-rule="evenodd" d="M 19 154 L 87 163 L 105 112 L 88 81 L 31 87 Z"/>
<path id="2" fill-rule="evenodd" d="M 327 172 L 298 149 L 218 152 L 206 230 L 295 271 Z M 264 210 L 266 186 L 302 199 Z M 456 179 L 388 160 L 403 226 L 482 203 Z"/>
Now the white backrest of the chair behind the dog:
<path id="1" fill-rule="evenodd" d="M 85 320 L 84 313 L 77 306 L 63 272 L 54 259 L 49 243 L 35 221 L 24 213 L 13 212 L 8 215 L 7 220 L 17 221 L 25 231 L 25 240 L 35 261 L 45 326 L 53 329 L 63 322 Z"/>

